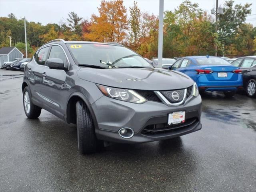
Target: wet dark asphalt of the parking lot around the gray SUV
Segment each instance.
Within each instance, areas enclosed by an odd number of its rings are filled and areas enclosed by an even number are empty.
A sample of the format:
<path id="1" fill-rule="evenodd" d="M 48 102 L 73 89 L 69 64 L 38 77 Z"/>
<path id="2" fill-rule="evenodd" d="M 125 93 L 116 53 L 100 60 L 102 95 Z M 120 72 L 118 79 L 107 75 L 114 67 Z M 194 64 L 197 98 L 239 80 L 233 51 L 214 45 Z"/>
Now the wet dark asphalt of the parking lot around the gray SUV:
<path id="1" fill-rule="evenodd" d="M 21 84 L 0 80 L 1 192 L 256 191 L 256 99 L 204 94 L 202 130 L 82 155 L 73 124 L 45 110 L 26 118 Z"/>

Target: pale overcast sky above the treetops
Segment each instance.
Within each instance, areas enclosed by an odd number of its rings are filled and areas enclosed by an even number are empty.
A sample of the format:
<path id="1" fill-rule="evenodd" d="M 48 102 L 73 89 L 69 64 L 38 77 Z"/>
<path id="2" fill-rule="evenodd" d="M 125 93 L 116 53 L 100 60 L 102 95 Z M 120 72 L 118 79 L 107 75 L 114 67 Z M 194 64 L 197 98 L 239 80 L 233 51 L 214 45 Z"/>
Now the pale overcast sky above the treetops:
<path id="1" fill-rule="evenodd" d="M 211 13 L 216 5 L 216 0 L 191 0 L 199 4 L 199 7 Z M 158 15 L 158 0 L 137 0 L 138 7 L 142 12 L 149 12 Z M 218 0 L 219 7 L 223 7 L 224 0 Z M 182 0 L 164 0 L 164 10 L 174 10 L 182 3 Z M 235 0 L 234 4 L 251 3 L 252 13 L 246 18 L 246 22 L 256 26 L 256 0 Z M 129 10 L 133 0 L 124 0 L 124 6 Z M 26 17 L 26 20 L 40 22 L 43 25 L 48 23 L 60 24 L 65 22 L 68 13 L 74 11 L 78 16 L 90 20 L 92 14 L 98 15 L 100 0 L 0 0 L 0 16 L 7 17 L 14 13 L 17 18 Z M 129 11 L 127 11 L 129 16 Z"/>

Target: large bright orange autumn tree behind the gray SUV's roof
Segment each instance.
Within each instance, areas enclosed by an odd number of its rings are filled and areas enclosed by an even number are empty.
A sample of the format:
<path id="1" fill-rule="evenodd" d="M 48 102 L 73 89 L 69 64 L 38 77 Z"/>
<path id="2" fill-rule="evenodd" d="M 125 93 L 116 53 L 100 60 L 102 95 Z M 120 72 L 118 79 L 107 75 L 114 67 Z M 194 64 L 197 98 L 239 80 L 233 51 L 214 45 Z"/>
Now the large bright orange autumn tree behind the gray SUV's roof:
<path id="1" fill-rule="evenodd" d="M 100 16 L 92 15 L 90 33 L 84 38 L 98 42 L 122 42 L 126 37 L 127 16 L 123 0 L 102 0 L 98 8 Z"/>

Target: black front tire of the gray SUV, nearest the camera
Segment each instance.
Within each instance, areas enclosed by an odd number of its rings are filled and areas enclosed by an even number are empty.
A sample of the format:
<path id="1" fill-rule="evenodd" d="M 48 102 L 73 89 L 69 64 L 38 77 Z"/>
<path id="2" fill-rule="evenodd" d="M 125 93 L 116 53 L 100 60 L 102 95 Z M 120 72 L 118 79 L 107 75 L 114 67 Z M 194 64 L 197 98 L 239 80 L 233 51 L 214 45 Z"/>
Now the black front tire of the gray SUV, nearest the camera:
<path id="1" fill-rule="evenodd" d="M 90 154 L 103 146 L 103 141 L 96 138 L 92 116 L 82 101 L 76 102 L 76 128 L 80 153 Z"/>

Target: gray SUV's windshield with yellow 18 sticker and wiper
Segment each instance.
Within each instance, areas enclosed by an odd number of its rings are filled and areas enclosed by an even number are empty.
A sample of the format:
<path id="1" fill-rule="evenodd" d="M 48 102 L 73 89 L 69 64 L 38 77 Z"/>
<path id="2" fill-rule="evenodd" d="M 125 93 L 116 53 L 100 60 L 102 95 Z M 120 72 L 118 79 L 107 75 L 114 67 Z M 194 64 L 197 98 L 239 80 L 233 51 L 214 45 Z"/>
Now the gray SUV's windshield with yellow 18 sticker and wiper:
<path id="1" fill-rule="evenodd" d="M 132 50 L 106 44 L 69 44 L 68 49 L 79 65 L 102 68 L 153 68 L 144 58 Z"/>

